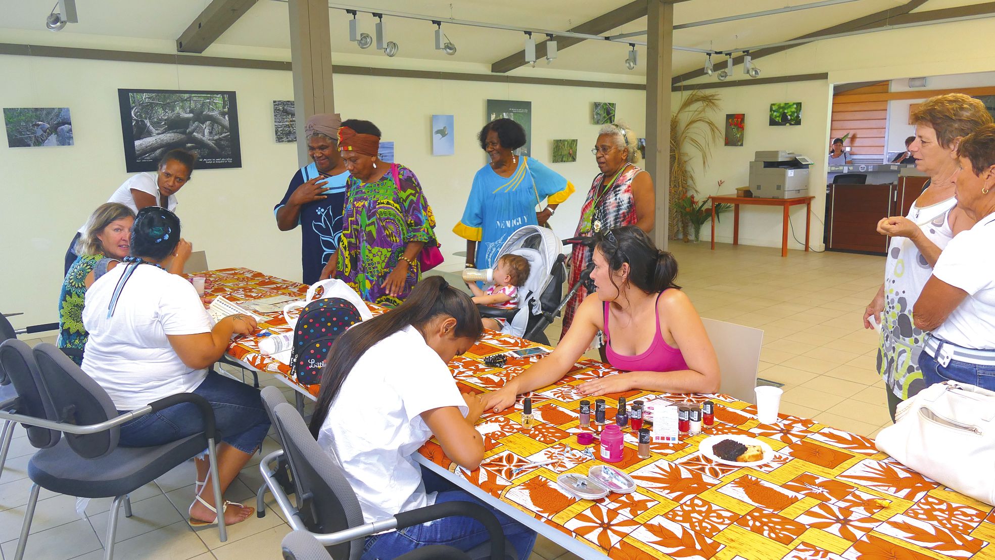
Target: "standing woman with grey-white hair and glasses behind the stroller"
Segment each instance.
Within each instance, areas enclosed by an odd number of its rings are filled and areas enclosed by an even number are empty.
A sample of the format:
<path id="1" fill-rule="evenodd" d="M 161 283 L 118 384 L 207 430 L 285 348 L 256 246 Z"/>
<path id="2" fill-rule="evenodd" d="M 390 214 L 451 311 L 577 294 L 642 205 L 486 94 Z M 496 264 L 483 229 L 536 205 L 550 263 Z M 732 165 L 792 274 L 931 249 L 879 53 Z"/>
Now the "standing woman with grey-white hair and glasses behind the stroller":
<path id="1" fill-rule="evenodd" d="M 654 207 L 657 203 L 653 178 L 636 165 L 639 150 L 636 134 L 624 124 L 605 124 L 598 131 L 598 140 L 591 149 L 601 171 L 591 183 L 580 211 L 576 236 L 591 236 L 598 231 L 637 226 L 649 233 L 653 229 Z M 570 257 L 570 278 L 567 285 L 580 280 L 580 273 L 591 262 L 593 249 L 576 245 Z M 563 333 L 573 321 L 577 305 L 587 296 L 580 286 L 563 311 Z"/>

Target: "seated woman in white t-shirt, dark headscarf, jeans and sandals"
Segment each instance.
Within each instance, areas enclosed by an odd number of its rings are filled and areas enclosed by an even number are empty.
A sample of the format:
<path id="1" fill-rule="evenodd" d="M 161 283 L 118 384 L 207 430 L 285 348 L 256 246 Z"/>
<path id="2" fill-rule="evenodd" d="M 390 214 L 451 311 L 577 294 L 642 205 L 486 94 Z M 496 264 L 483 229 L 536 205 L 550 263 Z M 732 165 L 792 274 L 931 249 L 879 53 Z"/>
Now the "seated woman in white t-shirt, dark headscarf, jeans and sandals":
<path id="1" fill-rule="evenodd" d="M 83 324 L 90 333 L 83 370 L 124 414 L 176 393 L 196 393 L 211 403 L 222 443 L 221 491 L 238 475 L 270 430 L 259 391 L 209 370 L 233 334 L 256 330 L 251 316 L 229 315 L 211 326 L 193 284 L 163 267 L 175 258 L 180 222 L 164 208 L 138 211 L 131 228 L 131 256 L 87 290 Z M 159 446 L 203 431 L 196 406 L 183 403 L 120 427 L 124 447 Z M 197 486 L 190 524 L 216 522 L 208 461 L 196 461 Z M 244 521 L 252 507 L 225 502 L 225 523 Z"/>

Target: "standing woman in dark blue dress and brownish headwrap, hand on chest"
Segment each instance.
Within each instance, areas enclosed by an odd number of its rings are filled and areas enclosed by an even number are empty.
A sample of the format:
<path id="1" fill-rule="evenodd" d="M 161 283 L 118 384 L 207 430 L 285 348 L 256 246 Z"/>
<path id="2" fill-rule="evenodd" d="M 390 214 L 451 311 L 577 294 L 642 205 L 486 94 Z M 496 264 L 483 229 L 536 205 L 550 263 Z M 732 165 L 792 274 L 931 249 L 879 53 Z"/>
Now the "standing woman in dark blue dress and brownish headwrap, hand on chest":
<path id="1" fill-rule="evenodd" d="M 338 153 L 338 113 L 318 113 L 307 118 L 307 155 L 313 160 L 298 169 L 273 209 L 277 227 L 289 232 L 300 226 L 302 281 L 314 283 L 335 271 L 338 239 L 342 235 L 345 180 L 349 172 Z"/>

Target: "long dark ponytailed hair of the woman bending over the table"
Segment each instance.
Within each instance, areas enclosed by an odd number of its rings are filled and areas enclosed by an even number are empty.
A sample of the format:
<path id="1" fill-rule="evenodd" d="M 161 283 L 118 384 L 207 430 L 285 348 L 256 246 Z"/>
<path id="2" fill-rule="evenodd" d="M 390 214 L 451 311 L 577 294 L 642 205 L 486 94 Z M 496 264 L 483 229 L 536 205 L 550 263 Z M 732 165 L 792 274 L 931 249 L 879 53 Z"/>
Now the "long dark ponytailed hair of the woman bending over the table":
<path id="1" fill-rule="evenodd" d="M 476 340 L 484 332 L 481 313 L 470 296 L 449 285 L 442 277 L 429 277 L 415 284 L 411 294 L 397 307 L 359 323 L 339 336 L 328 350 L 321 372 L 321 391 L 309 427 L 311 435 L 317 438 L 338 390 L 363 354 L 409 324 L 424 328 L 438 316 L 456 319 L 454 335 L 457 338 Z"/>

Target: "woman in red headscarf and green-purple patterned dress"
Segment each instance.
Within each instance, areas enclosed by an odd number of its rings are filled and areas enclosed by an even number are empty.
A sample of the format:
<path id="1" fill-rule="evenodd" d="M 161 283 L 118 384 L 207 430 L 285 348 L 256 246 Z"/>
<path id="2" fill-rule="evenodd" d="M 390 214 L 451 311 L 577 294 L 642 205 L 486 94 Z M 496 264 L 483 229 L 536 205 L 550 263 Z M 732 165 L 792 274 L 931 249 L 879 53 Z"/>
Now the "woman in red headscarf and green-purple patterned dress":
<path id="1" fill-rule="evenodd" d="M 421 279 L 418 255 L 438 246 L 435 217 L 415 174 L 377 157 L 380 129 L 349 119 L 338 149 L 352 174 L 346 182 L 336 276 L 366 301 L 397 305 Z"/>

